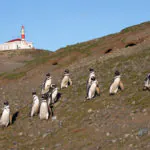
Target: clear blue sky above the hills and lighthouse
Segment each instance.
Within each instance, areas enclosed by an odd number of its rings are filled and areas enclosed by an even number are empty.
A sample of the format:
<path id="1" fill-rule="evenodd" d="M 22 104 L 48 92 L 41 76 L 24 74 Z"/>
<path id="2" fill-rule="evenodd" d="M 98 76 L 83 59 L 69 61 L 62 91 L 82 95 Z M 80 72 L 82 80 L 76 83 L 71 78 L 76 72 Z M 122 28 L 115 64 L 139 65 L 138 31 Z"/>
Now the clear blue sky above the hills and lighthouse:
<path id="1" fill-rule="evenodd" d="M 119 32 L 150 20 L 150 0 L 3 0 L 0 43 L 20 37 L 36 48 L 67 45 Z"/>

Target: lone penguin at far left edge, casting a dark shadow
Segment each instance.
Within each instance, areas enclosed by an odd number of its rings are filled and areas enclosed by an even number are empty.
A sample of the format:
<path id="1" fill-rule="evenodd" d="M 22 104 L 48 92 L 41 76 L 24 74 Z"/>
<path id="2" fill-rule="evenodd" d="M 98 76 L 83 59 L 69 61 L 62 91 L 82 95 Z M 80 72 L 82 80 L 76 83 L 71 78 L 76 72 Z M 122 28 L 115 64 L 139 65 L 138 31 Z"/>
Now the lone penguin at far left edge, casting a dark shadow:
<path id="1" fill-rule="evenodd" d="M 0 125 L 7 127 L 10 123 L 10 107 L 8 101 L 4 102 L 4 108 L 0 119 Z"/>

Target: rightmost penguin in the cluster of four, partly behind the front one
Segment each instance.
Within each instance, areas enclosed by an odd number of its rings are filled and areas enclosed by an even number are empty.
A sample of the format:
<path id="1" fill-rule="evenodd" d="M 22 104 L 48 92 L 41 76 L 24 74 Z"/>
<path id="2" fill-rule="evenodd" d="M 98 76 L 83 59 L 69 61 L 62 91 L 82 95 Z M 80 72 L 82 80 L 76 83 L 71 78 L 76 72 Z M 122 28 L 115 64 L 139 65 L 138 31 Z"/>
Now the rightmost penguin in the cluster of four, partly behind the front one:
<path id="1" fill-rule="evenodd" d="M 56 87 L 56 84 L 52 84 L 51 88 L 52 90 L 48 96 L 48 105 L 54 104 L 57 101 L 58 88 Z"/>

